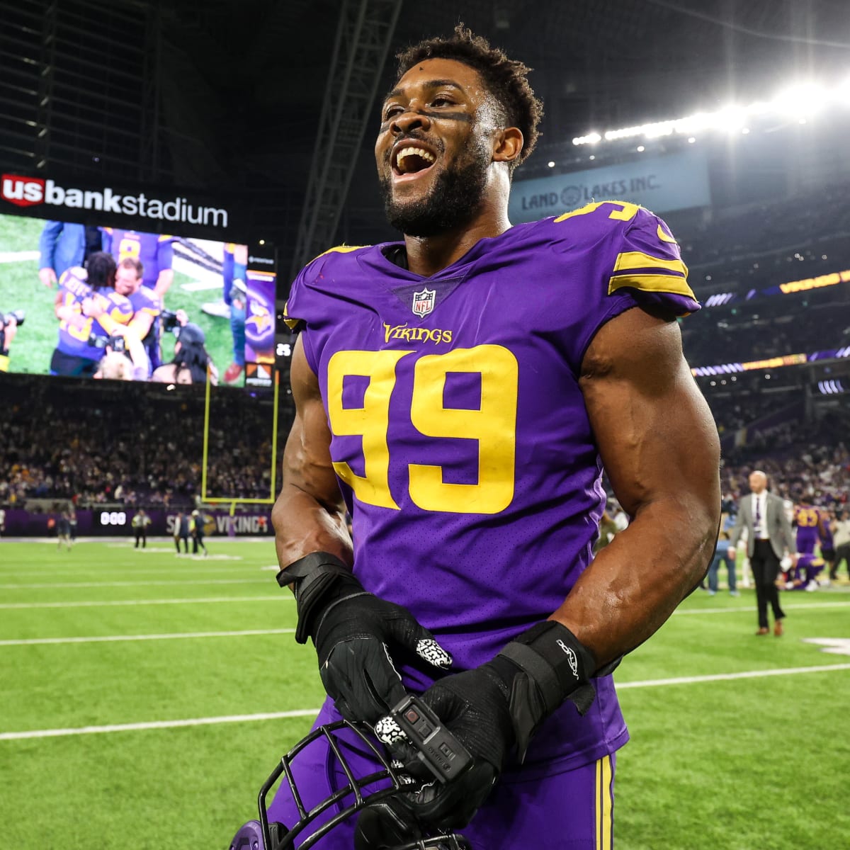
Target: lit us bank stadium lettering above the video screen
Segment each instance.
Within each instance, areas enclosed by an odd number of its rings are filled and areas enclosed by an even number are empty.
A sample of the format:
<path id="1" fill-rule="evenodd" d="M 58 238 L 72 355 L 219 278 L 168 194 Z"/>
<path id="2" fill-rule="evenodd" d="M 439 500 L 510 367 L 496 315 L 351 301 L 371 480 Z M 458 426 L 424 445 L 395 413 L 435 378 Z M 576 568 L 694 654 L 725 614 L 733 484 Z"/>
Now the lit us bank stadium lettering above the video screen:
<path id="1" fill-rule="evenodd" d="M 200 224 L 216 229 L 226 229 L 229 224 L 226 208 L 206 207 L 184 195 L 161 197 L 144 191 L 116 190 L 112 186 L 83 189 L 50 178 L 21 174 L 3 174 L 0 198 L 15 207 L 37 207 L 26 212 L 44 218 L 65 218 L 68 210 L 80 210 L 158 222 Z M 2 209 L 0 207 L 0 211 Z"/>

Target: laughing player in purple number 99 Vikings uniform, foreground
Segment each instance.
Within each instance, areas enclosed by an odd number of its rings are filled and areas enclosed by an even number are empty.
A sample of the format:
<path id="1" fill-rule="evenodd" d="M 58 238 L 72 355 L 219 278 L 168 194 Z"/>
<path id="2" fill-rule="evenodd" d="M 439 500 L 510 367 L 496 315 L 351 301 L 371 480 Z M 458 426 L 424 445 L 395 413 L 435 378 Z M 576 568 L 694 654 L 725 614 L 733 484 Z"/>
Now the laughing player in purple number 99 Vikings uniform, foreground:
<path id="1" fill-rule="evenodd" d="M 399 792 L 360 846 L 424 826 L 610 847 L 627 733 L 609 673 L 717 540 L 717 430 L 676 321 L 699 305 L 666 224 L 626 202 L 507 219 L 541 116 L 527 71 L 460 27 L 400 54 L 376 160 L 404 241 L 326 253 L 287 303 L 297 416 L 273 519 L 329 694 L 317 723 L 377 722 L 422 778 L 382 717 L 410 689 L 473 756 Z M 603 465 L 632 522 L 593 558 Z M 299 779 L 309 806 L 339 778 L 319 756 Z M 297 820 L 285 791 L 269 818 Z"/>

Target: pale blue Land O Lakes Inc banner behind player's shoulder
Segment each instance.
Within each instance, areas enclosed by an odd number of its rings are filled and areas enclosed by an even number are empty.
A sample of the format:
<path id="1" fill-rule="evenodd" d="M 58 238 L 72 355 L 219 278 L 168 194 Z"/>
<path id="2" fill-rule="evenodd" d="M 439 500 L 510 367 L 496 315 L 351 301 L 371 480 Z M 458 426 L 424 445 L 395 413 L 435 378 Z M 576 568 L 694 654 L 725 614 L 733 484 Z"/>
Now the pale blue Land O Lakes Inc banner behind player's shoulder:
<path id="1" fill-rule="evenodd" d="M 592 201 L 632 201 L 652 212 L 711 203 L 708 162 L 700 150 L 648 156 L 553 177 L 517 180 L 508 215 L 513 222 L 537 221 Z"/>

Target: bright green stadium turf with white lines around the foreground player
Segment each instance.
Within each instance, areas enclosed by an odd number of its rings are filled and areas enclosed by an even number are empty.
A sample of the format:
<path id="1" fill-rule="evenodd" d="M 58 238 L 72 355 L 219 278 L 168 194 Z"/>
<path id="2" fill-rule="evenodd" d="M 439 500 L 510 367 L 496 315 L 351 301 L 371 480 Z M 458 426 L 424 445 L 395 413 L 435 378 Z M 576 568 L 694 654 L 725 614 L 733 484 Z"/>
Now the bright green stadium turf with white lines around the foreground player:
<path id="1" fill-rule="evenodd" d="M 223 850 L 256 816 L 323 692 L 272 542 L 208 545 L 0 541 L 3 846 Z M 615 847 L 848 846 L 850 587 L 785 593 L 784 638 L 754 603 L 697 592 L 616 672 Z"/>

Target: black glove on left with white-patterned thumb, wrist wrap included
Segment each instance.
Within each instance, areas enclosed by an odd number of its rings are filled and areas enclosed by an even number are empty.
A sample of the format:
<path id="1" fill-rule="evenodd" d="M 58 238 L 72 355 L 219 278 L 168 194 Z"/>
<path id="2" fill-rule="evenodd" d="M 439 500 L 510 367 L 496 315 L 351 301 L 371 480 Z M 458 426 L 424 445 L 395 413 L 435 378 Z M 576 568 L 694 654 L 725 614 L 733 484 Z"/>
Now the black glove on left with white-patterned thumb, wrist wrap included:
<path id="1" fill-rule="evenodd" d="M 300 558 L 280 570 L 277 581 L 294 585 L 295 639 L 313 638 L 322 683 L 347 720 L 375 723 L 405 696 L 393 657 L 425 660 L 439 670 L 451 664 L 410 611 L 366 592 L 334 555 Z"/>

